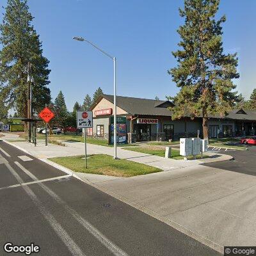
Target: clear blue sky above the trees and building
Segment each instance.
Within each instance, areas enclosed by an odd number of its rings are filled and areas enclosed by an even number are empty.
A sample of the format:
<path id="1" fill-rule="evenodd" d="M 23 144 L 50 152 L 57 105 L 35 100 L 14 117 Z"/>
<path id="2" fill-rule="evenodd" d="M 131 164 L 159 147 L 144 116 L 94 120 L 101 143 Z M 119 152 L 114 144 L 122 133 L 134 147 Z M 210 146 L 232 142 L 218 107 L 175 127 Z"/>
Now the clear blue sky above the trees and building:
<path id="1" fill-rule="evenodd" d="M 62 90 L 68 109 L 99 86 L 113 94 L 112 61 L 72 36 L 84 36 L 116 56 L 118 95 L 164 99 L 178 92 L 167 70 L 176 65 L 171 52 L 179 42 L 177 28 L 183 20 L 178 8 L 183 0 L 29 0 L 28 4 L 44 56 L 51 61 L 52 98 Z M 245 97 L 256 87 L 255 9 L 255 0 L 222 0 L 218 13 L 227 15 L 224 49 L 239 54 L 241 77 L 236 84 Z"/>

